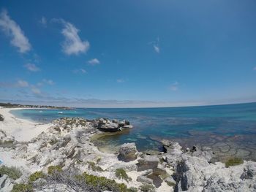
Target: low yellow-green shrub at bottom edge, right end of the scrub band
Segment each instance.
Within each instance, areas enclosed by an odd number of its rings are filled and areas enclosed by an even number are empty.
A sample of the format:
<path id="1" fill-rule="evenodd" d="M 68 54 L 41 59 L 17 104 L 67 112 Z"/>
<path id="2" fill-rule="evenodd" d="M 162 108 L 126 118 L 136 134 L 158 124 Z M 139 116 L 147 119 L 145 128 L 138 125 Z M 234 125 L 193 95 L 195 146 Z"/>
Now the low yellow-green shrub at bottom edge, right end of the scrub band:
<path id="1" fill-rule="evenodd" d="M 115 180 L 110 180 L 106 177 L 97 177 L 84 172 L 78 175 L 77 179 L 97 188 L 99 191 L 128 192 L 127 185 L 124 185 L 124 183 L 116 183 Z"/>

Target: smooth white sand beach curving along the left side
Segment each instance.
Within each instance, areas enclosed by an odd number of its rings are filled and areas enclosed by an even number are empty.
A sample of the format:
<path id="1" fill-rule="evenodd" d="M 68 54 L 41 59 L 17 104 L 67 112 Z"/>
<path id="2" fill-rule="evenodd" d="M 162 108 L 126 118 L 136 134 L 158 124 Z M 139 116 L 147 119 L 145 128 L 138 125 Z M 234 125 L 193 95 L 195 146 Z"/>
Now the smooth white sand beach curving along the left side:
<path id="1" fill-rule="evenodd" d="M 0 108 L 0 114 L 4 116 L 4 121 L 0 121 L 0 129 L 7 134 L 15 137 L 19 142 L 29 142 L 30 139 L 37 137 L 42 131 L 46 131 L 48 124 L 39 124 L 30 120 L 15 118 L 10 110 L 21 110 L 23 108 Z"/>

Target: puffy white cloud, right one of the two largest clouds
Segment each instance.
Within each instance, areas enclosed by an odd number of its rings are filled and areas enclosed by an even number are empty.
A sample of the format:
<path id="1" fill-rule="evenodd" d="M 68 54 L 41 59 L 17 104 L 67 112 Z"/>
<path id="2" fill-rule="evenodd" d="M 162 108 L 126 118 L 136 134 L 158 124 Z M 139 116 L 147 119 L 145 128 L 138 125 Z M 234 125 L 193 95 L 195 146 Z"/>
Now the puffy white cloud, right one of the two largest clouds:
<path id="1" fill-rule="evenodd" d="M 90 44 L 88 41 L 82 41 L 78 36 L 78 28 L 67 21 L 61 20 L 64 28 L 61 34 L 64 35 L 65 40 L 62 44 L 62 49 L 67 55 L 78 55 L 79 53 L 86 53 L 89 50 Z"/>

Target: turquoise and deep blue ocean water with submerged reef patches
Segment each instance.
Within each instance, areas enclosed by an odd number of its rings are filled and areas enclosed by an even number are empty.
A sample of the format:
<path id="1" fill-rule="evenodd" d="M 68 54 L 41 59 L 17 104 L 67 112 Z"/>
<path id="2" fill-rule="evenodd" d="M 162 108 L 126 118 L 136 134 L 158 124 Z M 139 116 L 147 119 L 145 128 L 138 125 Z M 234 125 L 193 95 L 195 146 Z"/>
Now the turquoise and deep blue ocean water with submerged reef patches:
<path id="1" fill-rule="evenodd" d="M 63 112 L 59 114 L 58 112 Z M 120 134 L 94 141 L 117 148 L 135 142 L 138 150 L 161 150 L 160 139 L 173 139 L 183 147 L 212 147 L 219 159 L 238 156 L 256 160 L 256 103 L 204 107 L 136 109 L 13 110 L 18 118 L 47 123 L 56 118 L 127 119 L 134 126 Z"/>

